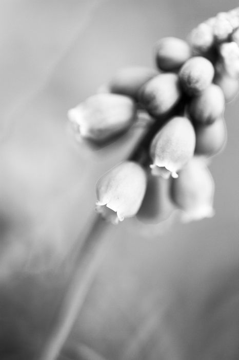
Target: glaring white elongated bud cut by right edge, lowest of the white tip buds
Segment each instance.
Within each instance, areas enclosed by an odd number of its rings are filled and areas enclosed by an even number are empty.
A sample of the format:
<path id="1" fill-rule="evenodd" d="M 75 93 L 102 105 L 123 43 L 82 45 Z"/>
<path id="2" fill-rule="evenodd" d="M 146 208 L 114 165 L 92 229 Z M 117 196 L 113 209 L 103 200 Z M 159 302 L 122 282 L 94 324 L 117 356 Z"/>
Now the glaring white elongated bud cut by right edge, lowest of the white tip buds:
<path id="1" fill-rule="evenodd" d="M 239 77 L 239 47 L 235 42 L 221 44 L 218 48 L 222 65 L 228 75 Z"/>

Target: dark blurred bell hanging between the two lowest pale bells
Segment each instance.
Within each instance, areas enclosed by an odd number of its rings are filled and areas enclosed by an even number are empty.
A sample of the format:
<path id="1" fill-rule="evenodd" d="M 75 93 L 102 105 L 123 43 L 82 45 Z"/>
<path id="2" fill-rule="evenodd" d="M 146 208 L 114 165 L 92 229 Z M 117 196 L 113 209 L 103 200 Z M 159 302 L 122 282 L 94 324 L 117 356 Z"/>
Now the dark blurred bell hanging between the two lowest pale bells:
<path id="1" fill-rule="evenodd" d="M 169 218 L 173 211 L 169 184 L 169 179 L 149 175 L 146 194 L 136 215 L 138 220 L 143 223 L 158 224 Z"/>

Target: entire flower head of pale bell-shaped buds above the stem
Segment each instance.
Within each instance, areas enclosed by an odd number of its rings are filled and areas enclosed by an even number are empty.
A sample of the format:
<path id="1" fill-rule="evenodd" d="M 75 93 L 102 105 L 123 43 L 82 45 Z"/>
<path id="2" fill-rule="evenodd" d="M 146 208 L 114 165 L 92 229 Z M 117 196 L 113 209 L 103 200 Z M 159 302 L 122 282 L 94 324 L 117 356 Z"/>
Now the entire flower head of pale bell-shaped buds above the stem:
<path id="1" fill-rule="evenodd" d="M 76 134 L 98 143 L 124 134 L 139 113 L 151 119 L 135 151 L 96 184 L 96 211 L 104 218 L 160 221 L 162 199 L 187 221 L 213 215 L 207 164 L 226 142 L 224 109 L 238 89 L 238 45 L 239 8 L 198 25 L 188 42 L 159 40 L 157 69 L 123 68 L 69 110 Z"/>

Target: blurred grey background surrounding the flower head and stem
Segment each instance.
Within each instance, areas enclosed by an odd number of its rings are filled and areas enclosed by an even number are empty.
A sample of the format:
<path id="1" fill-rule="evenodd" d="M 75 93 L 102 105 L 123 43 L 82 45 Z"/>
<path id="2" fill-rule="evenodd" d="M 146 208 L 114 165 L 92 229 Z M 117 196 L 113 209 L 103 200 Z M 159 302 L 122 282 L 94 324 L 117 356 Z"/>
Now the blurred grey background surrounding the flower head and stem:
<path id="1" fill-rule="evenodd" d="M 0 358 L 44 345 L 89 225 L 94 185 L 132 146 L 77 145 L 67 110 L 125 65 L 154 66 L 156 40 L 185 38 L 236 0 L 2 0 L 0 3 Z M 59 357 L 239 358 L 239 98 L 211 165 L 215 217 L 110 226 L 109 246 Z M 72 350 L 74 349 L 74 350 Z M 98 355 L 93 355 L 91 350 Z M 68 357 L 67 357 L 68 356 Z"/>

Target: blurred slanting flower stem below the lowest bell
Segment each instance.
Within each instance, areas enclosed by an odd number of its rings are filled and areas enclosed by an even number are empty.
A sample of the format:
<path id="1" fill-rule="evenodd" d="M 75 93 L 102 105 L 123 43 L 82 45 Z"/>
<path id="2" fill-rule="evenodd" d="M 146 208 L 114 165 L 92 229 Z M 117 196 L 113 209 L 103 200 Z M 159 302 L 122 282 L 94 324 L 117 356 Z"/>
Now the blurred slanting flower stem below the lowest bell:
<path id="1" fill-rule="evenodd" d="M 101 217 L 95 215 L 82 246 L 76 250 L 74 266 L 59 305 L 59 312 L 53 319 L 53 328 L 48 334 L 43 351 L 36 356 L 37 360 L 55 360 L 61 352 L 105 254 L 107 241 L 102 233 L 107 225 Z"/>

